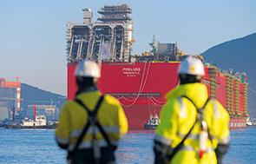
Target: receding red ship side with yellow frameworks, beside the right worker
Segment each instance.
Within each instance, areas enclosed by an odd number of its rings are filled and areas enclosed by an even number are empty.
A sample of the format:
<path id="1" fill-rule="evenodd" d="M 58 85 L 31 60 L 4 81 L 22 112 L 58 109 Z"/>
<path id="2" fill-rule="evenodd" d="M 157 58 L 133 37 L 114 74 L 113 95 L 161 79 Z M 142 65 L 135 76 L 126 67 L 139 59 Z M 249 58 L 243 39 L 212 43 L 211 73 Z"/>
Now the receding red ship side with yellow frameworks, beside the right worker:
<path id="1" fill-rule="evenodd" d="M 247 110 L 247 75 L 233 72 L 233 69 L 220 72 L 214 64 L 205 63 L 206 75 L 202 83 L 206 84 L 208 95 L 217 99 L 230 115 L 231 128 L 245 127 Z"/>

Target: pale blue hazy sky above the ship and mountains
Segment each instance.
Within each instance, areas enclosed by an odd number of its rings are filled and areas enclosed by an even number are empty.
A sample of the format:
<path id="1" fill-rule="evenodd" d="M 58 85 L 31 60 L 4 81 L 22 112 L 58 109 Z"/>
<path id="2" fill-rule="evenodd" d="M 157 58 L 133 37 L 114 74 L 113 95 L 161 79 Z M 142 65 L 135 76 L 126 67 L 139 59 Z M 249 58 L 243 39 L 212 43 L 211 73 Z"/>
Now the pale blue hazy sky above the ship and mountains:
<path id="1" fill-rule="evenodd" d="M 128 3 L 133 13 L 132 54 L 150 49 L 153 35 L 185 54 L 200 54 L 256 32 L 255 0 L 2 0 L 0 77 L 66 95 L 66 24 L 82 22 L 90 8 L 94 22 L 104 4 Z"/>

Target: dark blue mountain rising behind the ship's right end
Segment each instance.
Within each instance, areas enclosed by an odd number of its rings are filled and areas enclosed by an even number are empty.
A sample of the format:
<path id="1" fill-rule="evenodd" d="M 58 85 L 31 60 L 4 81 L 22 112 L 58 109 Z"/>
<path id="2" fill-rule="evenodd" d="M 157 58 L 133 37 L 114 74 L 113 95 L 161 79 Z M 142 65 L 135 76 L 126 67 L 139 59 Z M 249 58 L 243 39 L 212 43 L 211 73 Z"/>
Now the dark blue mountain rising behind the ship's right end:
<path id="1" fill-rule="evenodd" d="M 256 33 L 220 43 L 200 54 L 222 70 L 233 69 L 248 76 L 248 112 L 256 116 Z"/>

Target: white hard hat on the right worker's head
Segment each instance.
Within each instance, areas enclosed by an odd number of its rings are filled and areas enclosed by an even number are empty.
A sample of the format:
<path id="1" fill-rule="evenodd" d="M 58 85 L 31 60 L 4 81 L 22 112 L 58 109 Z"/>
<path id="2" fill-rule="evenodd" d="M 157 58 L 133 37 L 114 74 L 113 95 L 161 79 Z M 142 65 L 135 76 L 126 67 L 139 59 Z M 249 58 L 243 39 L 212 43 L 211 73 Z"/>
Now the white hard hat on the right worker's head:
<path id="1" fill-rule="evenodd" d="M 206 75 L 205 68 L 200 59 L 188 56 L 179 65 L 178 74 Z"/>

